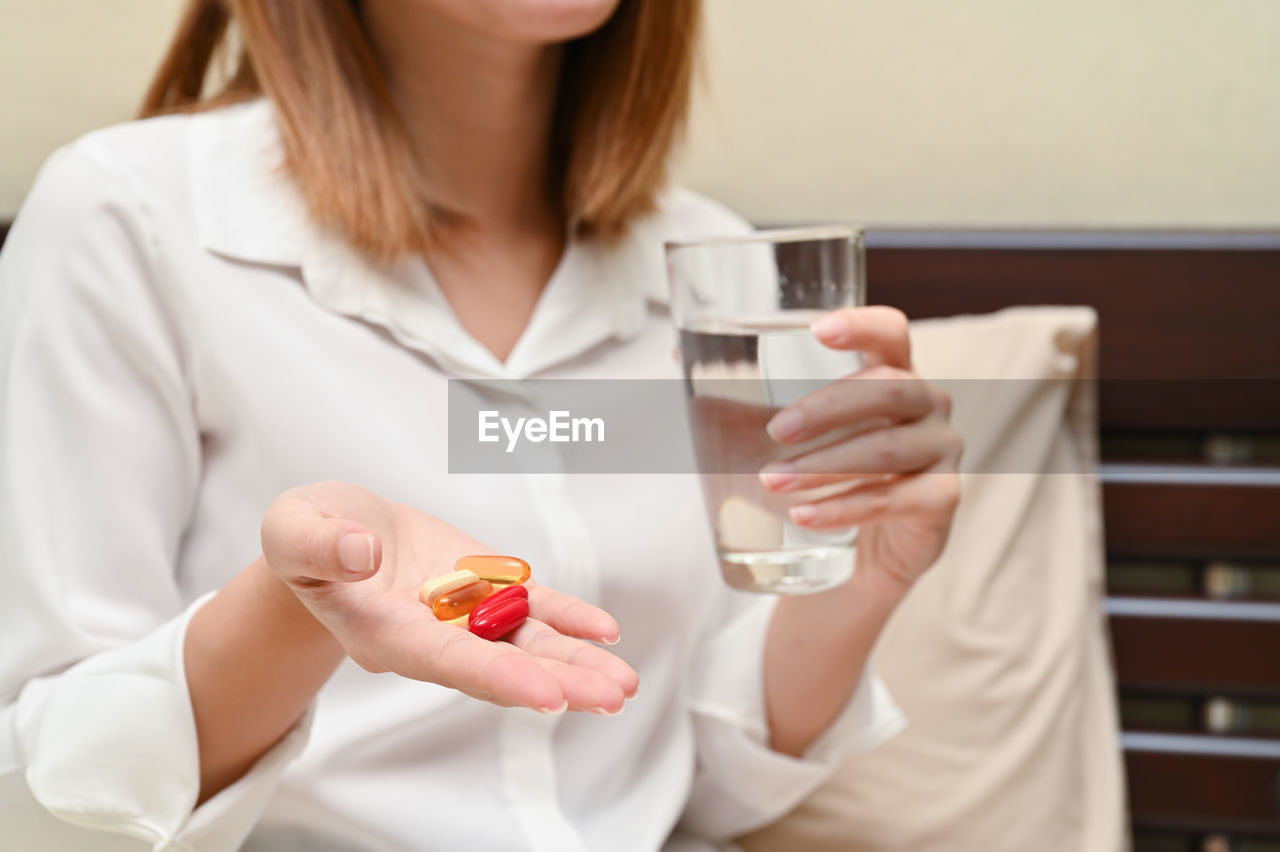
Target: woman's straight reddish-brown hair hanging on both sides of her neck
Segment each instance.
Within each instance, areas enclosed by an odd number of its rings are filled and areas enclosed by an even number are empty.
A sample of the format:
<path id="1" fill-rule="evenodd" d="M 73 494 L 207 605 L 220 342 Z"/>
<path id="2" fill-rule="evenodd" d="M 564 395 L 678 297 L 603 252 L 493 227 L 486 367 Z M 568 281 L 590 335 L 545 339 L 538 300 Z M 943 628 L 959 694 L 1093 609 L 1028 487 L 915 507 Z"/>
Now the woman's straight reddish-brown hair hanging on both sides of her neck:
<path id="1" fill-rule="evenodd" d="M 699 6 L 622 0 L 600 29 L 567 45 L 550 165 L 561 209 L 581 233 L 614 237 L 653 209 L 689 107 Z M 220 56 L 232 72 L 207 92 Z M 428 202 L 358 0 L 189 0 L 142 115 L 264 93 L 284 166 L 316 220 L 376 260 L 430 251 L 448 214 Z"/>

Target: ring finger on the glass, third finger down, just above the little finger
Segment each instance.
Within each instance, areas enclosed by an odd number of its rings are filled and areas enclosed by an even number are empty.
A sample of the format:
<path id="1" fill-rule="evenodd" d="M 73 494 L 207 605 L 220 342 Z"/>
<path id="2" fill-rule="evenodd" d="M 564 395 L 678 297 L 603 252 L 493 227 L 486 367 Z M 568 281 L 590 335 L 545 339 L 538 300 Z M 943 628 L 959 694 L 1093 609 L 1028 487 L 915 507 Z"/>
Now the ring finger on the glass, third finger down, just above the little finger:
<path id="1" fill-rule="evenodd" d="M 914 423 L 877 429 L 760 469 L 771 491 L 803 491 L 883 473 L 914 473 L 946 458 L 959 458 L 960 436 L 941 413 Z"/>

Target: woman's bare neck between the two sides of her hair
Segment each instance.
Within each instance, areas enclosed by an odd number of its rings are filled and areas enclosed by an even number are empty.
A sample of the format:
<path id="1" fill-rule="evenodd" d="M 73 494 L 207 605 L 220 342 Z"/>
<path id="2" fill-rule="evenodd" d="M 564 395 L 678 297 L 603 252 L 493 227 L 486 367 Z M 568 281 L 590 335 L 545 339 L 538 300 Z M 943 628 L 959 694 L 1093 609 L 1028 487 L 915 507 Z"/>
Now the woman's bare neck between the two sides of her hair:
<path id="1" fill-rule="evenodd" d="M 549 159 L 562 49 L 479 36 L 429 6 L 364 4 L 430 201 L 481 230 L 559 232 Z"/>

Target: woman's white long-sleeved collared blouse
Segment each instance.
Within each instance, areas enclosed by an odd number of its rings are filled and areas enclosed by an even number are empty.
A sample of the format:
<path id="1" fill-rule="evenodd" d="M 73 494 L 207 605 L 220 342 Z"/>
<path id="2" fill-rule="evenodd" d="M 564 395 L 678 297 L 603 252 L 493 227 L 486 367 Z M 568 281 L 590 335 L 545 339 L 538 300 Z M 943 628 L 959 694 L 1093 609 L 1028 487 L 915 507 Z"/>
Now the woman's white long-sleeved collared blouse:
<path id="1" fill-rule="evenodd" d="M 675 379 L 662 241 L 744 223 L 682 191 L 572 241 L 506 363 L 426 266 L 307 217 L 265 101 L 52 156 L 0 255 L 0 847 L 707 848 L 774 820 L 902 719 L 868 674 L 796 760 L 767 747 L 773 599 L 721 582 L 687 475 L 449 475 L 449 379 Z M 195 807 L 192 611 L 271 499 L 364 485 L 604 606 L 614 718 L 499 709 L 346 661 Z"/>

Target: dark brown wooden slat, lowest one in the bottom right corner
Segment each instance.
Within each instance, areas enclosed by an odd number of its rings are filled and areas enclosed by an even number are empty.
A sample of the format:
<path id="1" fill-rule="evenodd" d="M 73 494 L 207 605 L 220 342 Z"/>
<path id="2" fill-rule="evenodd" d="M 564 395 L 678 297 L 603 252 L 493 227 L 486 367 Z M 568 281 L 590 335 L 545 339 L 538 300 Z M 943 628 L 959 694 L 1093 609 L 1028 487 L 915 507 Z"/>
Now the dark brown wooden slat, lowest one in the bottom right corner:
<path id="1" fill-rule="evenodd" d="M 1139 828 L 1280 837 L 1280 760 L 1126 752 Z"/>

